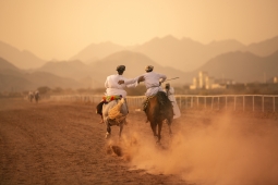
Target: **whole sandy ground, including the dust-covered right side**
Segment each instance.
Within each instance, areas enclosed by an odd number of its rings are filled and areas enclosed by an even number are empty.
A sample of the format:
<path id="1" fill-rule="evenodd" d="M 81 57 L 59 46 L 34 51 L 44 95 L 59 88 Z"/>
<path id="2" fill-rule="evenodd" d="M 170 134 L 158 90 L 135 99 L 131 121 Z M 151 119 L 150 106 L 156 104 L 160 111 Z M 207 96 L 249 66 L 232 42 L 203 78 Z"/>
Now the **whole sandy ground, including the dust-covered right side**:
<path id="1" fill-rule="evenodd" d="M 143 112 L 121 140 L 99 121 L 92 103 L 1 99 L 0 184 L 278 184 L 277 114 L 182 111 L 160 146 Z"/>

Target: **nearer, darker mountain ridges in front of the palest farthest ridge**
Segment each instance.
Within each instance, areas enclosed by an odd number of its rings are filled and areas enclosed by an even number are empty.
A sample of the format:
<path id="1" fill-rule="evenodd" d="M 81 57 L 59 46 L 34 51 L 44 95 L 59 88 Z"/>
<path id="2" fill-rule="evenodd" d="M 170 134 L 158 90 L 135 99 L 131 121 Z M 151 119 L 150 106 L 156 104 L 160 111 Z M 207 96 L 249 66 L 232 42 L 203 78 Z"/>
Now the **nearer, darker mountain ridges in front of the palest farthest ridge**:
<path id="1" fill-rule="evenodd" d="M 124 76 L 134 78 L 143 73 L 146 65 L 154 65 L 154 72 L 166 74 L 174 86 L 192 84 L 200 71 L 208 72 L 215 78 L 230 78 L 238 83 L 264 82 L 264 77 L 278 76 L 278 51 L 268 57 L 258 57 L 251 52 L 229 52 L 213 58 L 193 72 L 182 72 L 162 66 L 145 54 L 133 51 L 119 51 L 109 57 L 85 64 L 78 60 L 48 62 L 41 67 L 24 71 L 0 59 L 0 91 L 8 89 L 34 89 L 38 86 L 81 88 L 104 87 L 106 77 L 117 74 L 118 64 L 126 66 Z"/>

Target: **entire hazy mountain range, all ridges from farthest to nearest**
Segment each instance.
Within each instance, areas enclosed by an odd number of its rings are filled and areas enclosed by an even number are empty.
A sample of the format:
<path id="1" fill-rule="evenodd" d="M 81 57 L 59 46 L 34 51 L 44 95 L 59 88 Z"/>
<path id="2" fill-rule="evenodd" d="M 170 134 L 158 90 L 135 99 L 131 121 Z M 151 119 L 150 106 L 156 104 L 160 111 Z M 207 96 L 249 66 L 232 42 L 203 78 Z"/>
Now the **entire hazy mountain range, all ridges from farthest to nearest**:
<path id="1" fill-rule="evenodd" d="M 126 66 L 128 78 L 143 74 L 146 65 L 154 65 L 155 72 L 168 78 L 179 77 L 171 81 L 174 85 L 191 84 L 200 71 L 239 83 L 264 82 L 264 77 L 278 76 L 278 37 L 250 46 L 237 40 L 202 45 L 171 36 L 134 47 L 105 42 L 88 46 L 69 61 L 49 62 L 0 42 L 0 91 L 38 86 L 104 87 L 106 77 L 116 74 L 119 64 Z"/>

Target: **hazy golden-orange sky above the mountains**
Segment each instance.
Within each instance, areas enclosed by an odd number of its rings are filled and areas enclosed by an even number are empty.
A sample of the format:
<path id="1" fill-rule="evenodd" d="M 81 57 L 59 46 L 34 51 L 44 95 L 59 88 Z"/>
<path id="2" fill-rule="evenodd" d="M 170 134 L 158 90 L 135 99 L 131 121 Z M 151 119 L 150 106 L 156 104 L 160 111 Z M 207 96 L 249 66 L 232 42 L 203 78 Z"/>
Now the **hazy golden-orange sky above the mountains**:
<path id="1" fill-rule="evenodd" d="M 45 60 L 154 37 L 242 44 L 278 35 L 278 0 L 0 0 L 0 40 Z"/>

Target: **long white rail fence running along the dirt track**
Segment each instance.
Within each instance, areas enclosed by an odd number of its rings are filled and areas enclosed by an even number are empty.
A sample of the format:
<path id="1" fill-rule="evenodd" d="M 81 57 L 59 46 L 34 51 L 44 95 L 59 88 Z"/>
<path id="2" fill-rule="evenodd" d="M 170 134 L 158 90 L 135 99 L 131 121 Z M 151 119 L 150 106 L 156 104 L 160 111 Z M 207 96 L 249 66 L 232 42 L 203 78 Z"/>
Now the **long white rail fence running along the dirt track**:
<path id="1" fill-rule="evenodd" d="M 88 101 L 98 103 L 102 95 L 67 95 L 51 96 L 58 101 Z M 130 109 L 141 109 L 145 96 L 128 96 Z M 210 110 L 239 110 L 239 111 L 268 111 L 277 112 L 278 95 L 176 95 L 180 109 L 210 109 Z"/>

